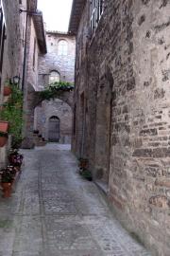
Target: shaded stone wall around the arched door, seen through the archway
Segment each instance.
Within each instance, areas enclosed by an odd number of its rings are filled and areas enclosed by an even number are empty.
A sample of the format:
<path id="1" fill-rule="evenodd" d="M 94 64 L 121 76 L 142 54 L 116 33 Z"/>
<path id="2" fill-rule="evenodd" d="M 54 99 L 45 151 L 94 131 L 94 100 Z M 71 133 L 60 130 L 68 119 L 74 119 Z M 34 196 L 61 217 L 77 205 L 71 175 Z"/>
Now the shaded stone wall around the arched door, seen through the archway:
<path id="1" fill-rule="evenodd" d="M 59 99 L 42 101 L 42 107 L 38 106 L 35 112 L 34 129 L 39 130 L 45 140 L 49 138 L 49 119 L 55 116 L 59 118 L 59 143 L 71 143 L 73 112 L 67 103 Z"/>

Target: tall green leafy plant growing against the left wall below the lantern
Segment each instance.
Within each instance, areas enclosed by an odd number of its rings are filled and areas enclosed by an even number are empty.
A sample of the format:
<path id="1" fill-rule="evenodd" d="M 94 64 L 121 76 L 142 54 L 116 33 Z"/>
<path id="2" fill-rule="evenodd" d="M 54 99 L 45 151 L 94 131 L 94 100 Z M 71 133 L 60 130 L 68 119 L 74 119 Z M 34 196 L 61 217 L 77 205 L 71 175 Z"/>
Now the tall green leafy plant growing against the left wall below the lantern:
<path id="1" fill-rule="evenodd" d="M 11 84 L 11 96 L 0 111 L 0 119 L 9 123 L 8 133 L 12 135 L 12 147 L 19 147 L 22 142 L 23 127 L 23 93 Z"/>

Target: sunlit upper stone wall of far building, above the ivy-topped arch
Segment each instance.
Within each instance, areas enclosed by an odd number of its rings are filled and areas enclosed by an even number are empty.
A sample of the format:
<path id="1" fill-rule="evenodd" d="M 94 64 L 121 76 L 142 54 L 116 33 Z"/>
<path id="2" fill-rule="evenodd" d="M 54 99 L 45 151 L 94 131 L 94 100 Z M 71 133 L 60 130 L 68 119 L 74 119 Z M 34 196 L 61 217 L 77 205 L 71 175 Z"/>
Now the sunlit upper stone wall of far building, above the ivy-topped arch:
<path id="1" fill-rule="evenodd" d="M 59 41 L 65 40 L 68 44 L 68 54 L 59 55 Z M 47 51 L 39 58 L 39 88 L 44 88 L 49 83 L 50 71 L 59 72 L 60 81 L 74 82 L 75 75 L 75 47 L 74 36 L 47 32 L 46 34 Z"/>

